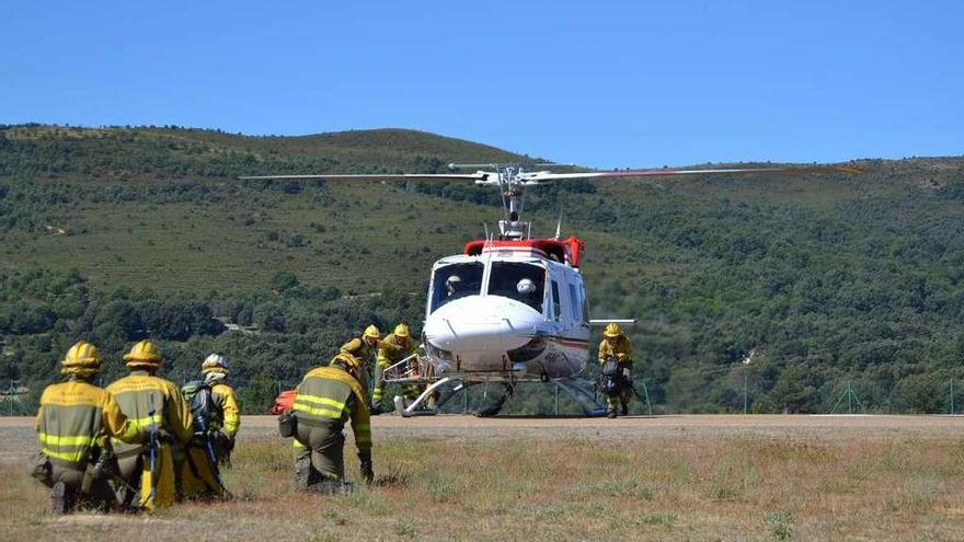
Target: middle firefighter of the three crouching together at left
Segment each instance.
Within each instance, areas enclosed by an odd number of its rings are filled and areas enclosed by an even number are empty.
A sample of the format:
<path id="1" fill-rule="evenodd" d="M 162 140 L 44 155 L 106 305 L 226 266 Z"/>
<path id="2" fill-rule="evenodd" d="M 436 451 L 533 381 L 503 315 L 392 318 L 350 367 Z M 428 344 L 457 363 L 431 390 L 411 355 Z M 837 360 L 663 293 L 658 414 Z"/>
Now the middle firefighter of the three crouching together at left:
<path id="1" fill-rule="evenodd" d="M 145 434 L 140 445 L 115 445 L 120 475 L 139 487 L 138 506 L 146 510 L 174 503 L 174 455 L 193 436 L 191 410 L 173 382 L 156 376 L 161 366 L 157 345 L 141 341 L 124 355 L 130 374 L 107 387 L 120 410 Z M 153 464 L 152 464 L 153 463 Z M 127 492 L 124 500 L 135 498 Z"/>

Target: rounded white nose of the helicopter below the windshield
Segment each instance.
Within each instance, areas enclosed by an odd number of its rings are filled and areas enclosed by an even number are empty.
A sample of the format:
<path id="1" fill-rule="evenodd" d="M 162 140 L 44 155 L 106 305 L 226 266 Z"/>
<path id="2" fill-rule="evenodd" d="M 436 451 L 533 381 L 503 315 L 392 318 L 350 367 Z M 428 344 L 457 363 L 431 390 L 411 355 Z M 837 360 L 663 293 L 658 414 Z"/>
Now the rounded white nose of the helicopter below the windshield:
<path id="1" fill-rule="evenodd" d="M 456 299 L 429 314 L 425 339 L 454 354 L 512 350 L 532 339 L 542 314 L 498 296 Z"/>

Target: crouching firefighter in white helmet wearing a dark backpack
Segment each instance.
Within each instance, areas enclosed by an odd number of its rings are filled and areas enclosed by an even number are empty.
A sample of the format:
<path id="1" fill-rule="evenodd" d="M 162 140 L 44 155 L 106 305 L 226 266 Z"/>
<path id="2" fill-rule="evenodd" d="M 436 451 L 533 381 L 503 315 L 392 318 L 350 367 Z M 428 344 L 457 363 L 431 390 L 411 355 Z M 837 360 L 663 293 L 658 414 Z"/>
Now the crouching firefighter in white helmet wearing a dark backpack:
<path id="1" fill-rule="evenodd" d="M 228 496 L 220 466 L 230 462 L 234 436 L 240 426 L 234 390 L 223 382 L 228 360 L 211 354 L 200 366 L 204 380 L 188 382 L 181 393 L 191 408 L 194 437 L 179 466 L 182 496 L 187 498 Z"/>

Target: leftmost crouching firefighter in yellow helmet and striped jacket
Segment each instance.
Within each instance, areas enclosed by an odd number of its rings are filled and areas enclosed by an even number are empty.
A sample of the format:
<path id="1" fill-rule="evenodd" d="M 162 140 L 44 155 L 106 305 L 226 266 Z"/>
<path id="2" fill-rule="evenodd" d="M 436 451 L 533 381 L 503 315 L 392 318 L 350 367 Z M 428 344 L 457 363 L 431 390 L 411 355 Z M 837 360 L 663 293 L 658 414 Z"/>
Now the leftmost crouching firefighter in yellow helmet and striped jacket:
<path id="1" fill-rule="evenodd" d="M 41 451 L 33 475 L 53 491 L 56 514 L 79 501 L 106 507 L 113 493 L 106 484 L 111 457 L 108 437 L 138 442 L 140 434 L 106 391 L 90 383 L 101 371 L 94 345 L 81 341 L 60 361 L 66 382 L 48 385 L 41 396 L 36 431 Z M 99 466 L 100 465 L 100 466 Z"/>

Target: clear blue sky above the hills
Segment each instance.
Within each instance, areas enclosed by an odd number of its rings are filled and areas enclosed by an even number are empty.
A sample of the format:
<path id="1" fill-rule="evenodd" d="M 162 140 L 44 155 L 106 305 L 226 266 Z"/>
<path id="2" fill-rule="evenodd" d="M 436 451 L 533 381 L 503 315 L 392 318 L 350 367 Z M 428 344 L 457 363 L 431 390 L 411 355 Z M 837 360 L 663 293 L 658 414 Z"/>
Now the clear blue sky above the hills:
<path id="1" fill-rule="evenodd" d="M 0 123 L 402 127 L 597 168 L 964 153 L 964 2 L 14 2 Z"/>

